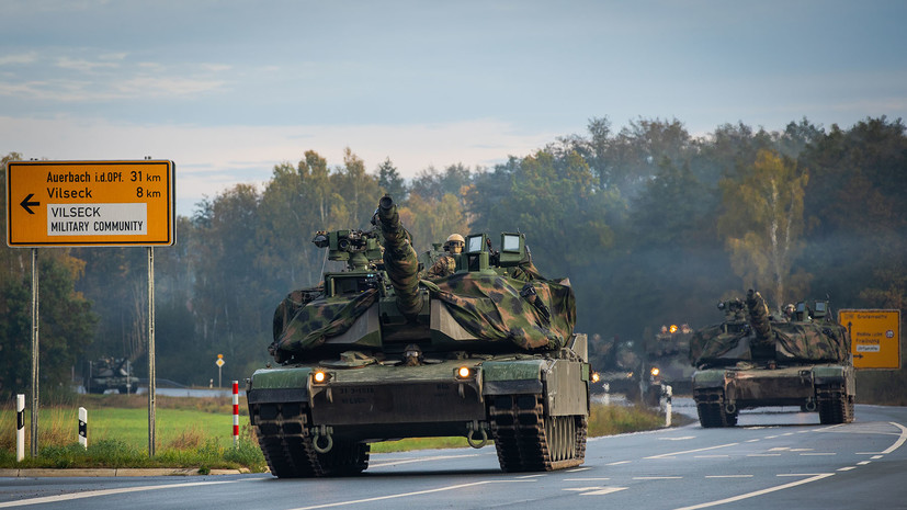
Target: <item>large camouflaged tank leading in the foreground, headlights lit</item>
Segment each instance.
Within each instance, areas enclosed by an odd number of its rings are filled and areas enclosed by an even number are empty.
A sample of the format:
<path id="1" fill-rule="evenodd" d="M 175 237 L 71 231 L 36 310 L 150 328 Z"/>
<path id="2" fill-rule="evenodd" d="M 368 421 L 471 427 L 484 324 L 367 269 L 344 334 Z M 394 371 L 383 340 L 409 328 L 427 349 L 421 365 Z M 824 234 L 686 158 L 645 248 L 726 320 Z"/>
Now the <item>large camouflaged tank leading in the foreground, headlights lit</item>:
<path id="1" fill-rule="evenodd" d="M 507 472 L 582 464 L 589 413 L 585 335 L 566 280 L 533 267 L 522 234 L 485 234 L 426 280 L 389 196 L 371 230 L 317 233 L 347 270 L 276 309 L 275 363 L 247 379 L 249 416 L 277 477 L 352 475 L 370 443 L 494 440 Z"/>

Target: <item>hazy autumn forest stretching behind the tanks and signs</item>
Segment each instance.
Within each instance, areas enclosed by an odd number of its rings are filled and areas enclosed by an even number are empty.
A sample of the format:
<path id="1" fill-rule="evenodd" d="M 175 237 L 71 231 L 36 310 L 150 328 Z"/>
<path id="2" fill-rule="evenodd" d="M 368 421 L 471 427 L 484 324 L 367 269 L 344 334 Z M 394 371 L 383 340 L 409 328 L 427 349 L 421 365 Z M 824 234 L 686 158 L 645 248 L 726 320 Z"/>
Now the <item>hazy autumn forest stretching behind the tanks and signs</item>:
<path id="1" fill-rule="evenodd" d="M 207 386 L 217 354 L 225 382 L 271 361 L 275 306 L 331 269 L 315 231 L 366 228 L 385 193 L 417 251 L 452 233 L 524 233 L 538 270 L 572 282 L 577 330 L 593 351 L 644 342 L 666 324 L 718 322 L 715 305 L 748 288 L 772 308 L 904 309 L 905 134 L 885 116 L 843 128 L 740 122 L 698 136 L 676 118 L 615 127 L 604 116 L 492 168 L 452 163 L 408 180 L 390 159 L 370 167 L 351 148 L 342 162 L 307 150 L 263 186 L 201 201 L 177 218 L 175 245 L 155 249 L 157 376 Z M 147 376 L 146 249 L 47 248 L 38 262 L 42 389 L 68 387 L 99 356 L 128 358 Z M 5 399 L 31 374 L 30 250 L 3 245 L 0 264 Z M 903 331 L 900 342 L 903 352 Z M 904 387 L 905 369 L 863 372 L 858 400 L 907 404 Z"/>

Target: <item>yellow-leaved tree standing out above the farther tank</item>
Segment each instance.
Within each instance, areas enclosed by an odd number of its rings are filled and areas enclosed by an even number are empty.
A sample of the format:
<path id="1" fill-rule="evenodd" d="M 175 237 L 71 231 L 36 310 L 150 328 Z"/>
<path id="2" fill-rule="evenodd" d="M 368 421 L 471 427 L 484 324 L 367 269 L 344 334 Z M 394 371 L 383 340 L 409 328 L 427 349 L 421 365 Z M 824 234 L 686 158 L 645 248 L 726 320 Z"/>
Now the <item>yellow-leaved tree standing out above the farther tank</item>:
<path id="1" fill-rule="evenodd" d="M 718 231 L 726 238 L 735 273 L 749 287 L 769 288 L 776 306 L 802 291 L 807 275 L 793 277 L 803 250 L 803 196 L 809 175 L 776 152 L 759 150 L 741 180 L 722 181 L 724 214 Z"/>

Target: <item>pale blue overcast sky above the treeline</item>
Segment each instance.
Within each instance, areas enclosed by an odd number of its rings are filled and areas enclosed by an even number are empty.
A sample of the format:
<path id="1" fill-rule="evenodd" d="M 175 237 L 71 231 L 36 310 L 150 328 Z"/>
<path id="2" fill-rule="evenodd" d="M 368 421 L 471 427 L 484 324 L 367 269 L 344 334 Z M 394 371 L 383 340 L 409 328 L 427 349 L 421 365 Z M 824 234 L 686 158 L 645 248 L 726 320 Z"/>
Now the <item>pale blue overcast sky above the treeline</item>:
<path id="1" fill-rule="evenodd" d="M 177 163 L 177 211 L 343 148 L 490 167 L 591 117 L 907 117 L 907 1 L 0 0 L 0 155 Z"/>

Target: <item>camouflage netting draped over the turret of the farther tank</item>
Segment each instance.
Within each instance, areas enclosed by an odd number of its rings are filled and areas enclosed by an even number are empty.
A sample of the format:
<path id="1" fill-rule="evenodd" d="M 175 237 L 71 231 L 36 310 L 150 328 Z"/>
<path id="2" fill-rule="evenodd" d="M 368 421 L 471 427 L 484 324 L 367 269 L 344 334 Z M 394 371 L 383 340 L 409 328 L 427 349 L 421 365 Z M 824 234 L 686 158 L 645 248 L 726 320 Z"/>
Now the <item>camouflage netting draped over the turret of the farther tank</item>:
<path id="1" fill-rule="evenodd" d="M 690 340 L 690 362 L 694 365 L 733 364 L 753 359 L 750 344 L 757 341 L 751 329 L 725 332 L 725 325 L 710 326 Z M 850 342 L 843 326 L 834 322 L 772 322 L 768 339 L 774 343 L 778 362 L 846 362 Z"/>

